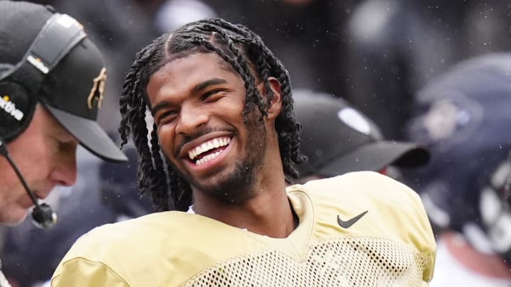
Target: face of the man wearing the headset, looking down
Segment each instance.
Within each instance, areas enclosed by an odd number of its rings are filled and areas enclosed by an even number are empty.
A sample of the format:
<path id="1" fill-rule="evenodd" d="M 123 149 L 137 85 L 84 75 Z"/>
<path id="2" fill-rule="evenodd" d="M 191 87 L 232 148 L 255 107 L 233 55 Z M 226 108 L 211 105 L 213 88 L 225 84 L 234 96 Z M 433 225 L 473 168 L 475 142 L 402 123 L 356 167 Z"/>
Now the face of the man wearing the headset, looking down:
<path id="1" fill-rule="evenodd" d="M 26 130 L 7 147 L 35 197 L 43 199 L 55 186 L 75 183 L 77 145 L 75 137 L 38 105 Z M 4 157 L 0 157 L 0 181 L 0 224 L 15 225 L 33 203 Z"/>

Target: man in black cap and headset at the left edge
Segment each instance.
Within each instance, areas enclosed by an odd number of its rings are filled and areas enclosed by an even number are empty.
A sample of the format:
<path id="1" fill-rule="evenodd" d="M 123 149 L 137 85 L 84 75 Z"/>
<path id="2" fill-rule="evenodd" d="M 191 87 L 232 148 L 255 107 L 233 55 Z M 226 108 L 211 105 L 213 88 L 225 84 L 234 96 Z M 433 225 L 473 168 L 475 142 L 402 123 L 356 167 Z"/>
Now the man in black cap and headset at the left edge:
<path id="1" fill-rule="evenodd" d="M 78 144 L 126 160 L 96 123 L 105 79 L 101 53 L 74 18 L 0 1 L 1 225 L 20 223 L 34 205 L 35 222 L 52 224 L 49 206 L 37 201 L 75 183 Z"/>

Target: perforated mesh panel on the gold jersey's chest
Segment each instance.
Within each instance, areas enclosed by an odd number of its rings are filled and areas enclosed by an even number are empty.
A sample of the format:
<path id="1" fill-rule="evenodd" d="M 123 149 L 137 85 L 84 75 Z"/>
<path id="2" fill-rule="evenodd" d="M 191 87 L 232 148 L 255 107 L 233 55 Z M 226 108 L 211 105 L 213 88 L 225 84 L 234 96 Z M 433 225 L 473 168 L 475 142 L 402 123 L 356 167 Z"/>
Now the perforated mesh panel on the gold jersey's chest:
<path id="1" fill-rule="evenodd" d="M 264 250 L 221 262 L 183 286 L 420 286 L 427 259 L 391 240 L 349 237 L 309 247 L 298 261 Z"/>

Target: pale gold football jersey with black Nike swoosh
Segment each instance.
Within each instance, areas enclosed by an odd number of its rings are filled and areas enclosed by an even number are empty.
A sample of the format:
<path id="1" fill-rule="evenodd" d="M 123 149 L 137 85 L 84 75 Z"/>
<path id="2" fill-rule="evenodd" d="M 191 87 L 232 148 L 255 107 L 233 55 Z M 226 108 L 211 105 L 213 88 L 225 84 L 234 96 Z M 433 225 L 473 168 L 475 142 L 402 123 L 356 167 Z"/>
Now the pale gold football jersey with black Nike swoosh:
<path id="1" fill-rule="evenodd" d="M 97 227 L 52 286 L 427 286 L 436 245 L 407 186 L 372 171 L 287 188 L 300 225 L 271 238 L 170 211 Z"/>

